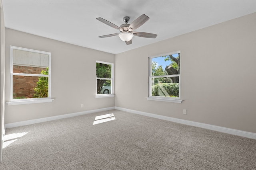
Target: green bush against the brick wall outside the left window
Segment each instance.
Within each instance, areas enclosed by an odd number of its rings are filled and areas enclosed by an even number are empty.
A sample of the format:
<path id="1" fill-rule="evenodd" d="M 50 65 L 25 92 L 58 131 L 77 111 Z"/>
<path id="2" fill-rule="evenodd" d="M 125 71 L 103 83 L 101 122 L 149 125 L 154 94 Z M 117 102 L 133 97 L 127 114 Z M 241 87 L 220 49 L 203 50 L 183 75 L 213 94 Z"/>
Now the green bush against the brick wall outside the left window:
<path id="1" fill-rule="evenodd" d="M 49 68 L 42 70 L 40 74 L 48 75 Z M 39 77 L 34 88 L 34 98 L 48 98 L 48 77 Z"/>

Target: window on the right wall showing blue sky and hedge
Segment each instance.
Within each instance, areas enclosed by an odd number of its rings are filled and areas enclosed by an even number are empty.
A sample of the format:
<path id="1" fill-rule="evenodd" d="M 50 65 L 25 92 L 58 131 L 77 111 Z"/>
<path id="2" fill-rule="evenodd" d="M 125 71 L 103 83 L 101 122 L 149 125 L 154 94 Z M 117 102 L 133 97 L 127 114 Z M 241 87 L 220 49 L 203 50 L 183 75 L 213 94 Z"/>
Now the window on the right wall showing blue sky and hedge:
<path id="1" fill-rule="evenodd" d="M 148 100 L 181 103 L 180 51 L 149 58 Z"/>

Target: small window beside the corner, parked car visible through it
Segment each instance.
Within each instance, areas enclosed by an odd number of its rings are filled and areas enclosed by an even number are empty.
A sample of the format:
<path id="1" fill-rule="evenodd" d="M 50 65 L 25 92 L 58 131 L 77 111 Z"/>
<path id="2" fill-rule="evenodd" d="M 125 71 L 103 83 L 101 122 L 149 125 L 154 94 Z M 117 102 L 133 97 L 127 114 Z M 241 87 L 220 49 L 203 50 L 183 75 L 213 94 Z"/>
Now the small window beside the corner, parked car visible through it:
<path id="1" fill-rule="evenodd" d="M 109 97 L 113 94 L 114 64 L 96 61 L 96 97 Z"/>

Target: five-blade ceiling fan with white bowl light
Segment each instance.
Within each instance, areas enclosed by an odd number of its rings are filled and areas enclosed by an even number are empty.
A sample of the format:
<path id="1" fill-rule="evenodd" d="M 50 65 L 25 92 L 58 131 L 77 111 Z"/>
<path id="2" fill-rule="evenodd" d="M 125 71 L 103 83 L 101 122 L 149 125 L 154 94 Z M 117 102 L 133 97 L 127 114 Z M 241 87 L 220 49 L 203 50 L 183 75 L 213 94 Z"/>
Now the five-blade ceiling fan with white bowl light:
<path id="1" fill-rule="evenodd" d="M 118 35 L 122 41 L 124 41 L 127 45 L 132 44 L 132 37 L 144 37 L 144 38 L 156 38 L 157 34 L 152 33 L 144 33 L 144 32 L 135 32 L 134 30 L 138 27 L 140 27 L 142 24 L 144 24 L 146 21 L 148 21 L 149 17 L 145 14 L 142 14 L 140 17 L 138 17 L 136 20 L 134 20 L 131 24 L 128 24 L 130 17 L 124 17 L 124 24 L 120 25 L 118 27 L 114 23 L 111 23 L 110 21 L 104 20 L 103 18 L 96 18 L 97 20 L 109 25 L 110 27 L 113 27 L 115 29 L 118 29 L 121 33 L 114 33 L 109 35 L 102 35 L 100 38 L 105 37 L 112 37 L 115 35 Z"/>

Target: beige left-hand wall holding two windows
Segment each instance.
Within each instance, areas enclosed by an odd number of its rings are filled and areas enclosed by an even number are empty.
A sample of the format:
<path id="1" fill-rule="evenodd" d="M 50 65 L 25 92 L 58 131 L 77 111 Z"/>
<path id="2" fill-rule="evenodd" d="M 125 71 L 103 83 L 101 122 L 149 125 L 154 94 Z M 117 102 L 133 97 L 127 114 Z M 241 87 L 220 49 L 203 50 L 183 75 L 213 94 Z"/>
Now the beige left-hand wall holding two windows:
<path id="1" fill-rule="evenodd" d="M 86 41 L 86 40 L 85 40 Z M 95 98 L 96 61 L 115 55 L 6 28 L 6 102 L 10 101 L 10 45 L 52 53 L 53 102 L 5 107 L 5 123 L 113 107 L 115 98 Z M 81 104 L 84 107 L 81 108 Z"/>

